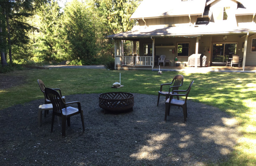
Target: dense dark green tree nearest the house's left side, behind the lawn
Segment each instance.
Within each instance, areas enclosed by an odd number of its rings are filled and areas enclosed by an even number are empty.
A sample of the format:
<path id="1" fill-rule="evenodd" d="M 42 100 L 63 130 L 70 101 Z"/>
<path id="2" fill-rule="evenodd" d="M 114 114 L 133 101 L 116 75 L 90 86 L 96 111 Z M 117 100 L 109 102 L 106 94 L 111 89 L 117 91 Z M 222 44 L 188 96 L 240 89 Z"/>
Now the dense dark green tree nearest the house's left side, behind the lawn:
<path id="1" fill-rule="evenodd" d="M 65 52 L 72 60 L 80 59 L 90 63 L 96 54 L 94 20 L 89 6 L 77 0 L 66 4 L 63 14 Z"/>

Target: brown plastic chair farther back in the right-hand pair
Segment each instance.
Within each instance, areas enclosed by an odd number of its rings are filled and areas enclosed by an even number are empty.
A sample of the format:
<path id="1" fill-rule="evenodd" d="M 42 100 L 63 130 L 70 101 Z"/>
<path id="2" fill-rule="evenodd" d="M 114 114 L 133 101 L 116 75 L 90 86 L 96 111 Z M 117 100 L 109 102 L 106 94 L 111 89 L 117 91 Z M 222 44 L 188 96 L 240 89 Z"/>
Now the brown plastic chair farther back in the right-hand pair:
<path id="1" fill-rule="evenodd" d="M 158 91 L 158 99 L 157 99 L 157 106 L 158 106 L 158 103 L 159 103 L 159 99 L 160 99 L 160 95 L 164 95 L 165 96 L 165 101 L 169 98 L 169 96 L 173 93 L 172 91 L 173 90 L 178 90 L 179 87 L 182 86 L 183 84 L 183 76 L 182 75 L 176 75 L 173 79 L 172 79 L 172 82 L 171 83 L 168 83 L 168 84 L 161 84 L 160 86 L 160 91 Z M 173 85 L 172 85 L 173 84 Z M 163 86 L 165 85 L 172 85 L 170 88 L 169 88 L 169 92 L 164 92 L 162 91 L 163 89 Z M 172 89 L 172 91 L 171 91 Z M 179 100 L 179 96 L 178 97 L 178 100 Z"/>

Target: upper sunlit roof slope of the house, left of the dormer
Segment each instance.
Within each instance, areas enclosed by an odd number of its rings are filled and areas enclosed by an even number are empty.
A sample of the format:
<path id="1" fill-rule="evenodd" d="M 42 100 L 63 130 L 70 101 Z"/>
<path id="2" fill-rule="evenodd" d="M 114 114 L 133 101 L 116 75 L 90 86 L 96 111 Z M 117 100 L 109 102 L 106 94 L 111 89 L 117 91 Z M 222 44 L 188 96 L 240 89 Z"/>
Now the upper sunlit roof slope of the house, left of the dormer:
<path id="1" fill-rule="evenodd" d="M 143 0 L 130 19 L 202 15 L 206 0 Z"/>

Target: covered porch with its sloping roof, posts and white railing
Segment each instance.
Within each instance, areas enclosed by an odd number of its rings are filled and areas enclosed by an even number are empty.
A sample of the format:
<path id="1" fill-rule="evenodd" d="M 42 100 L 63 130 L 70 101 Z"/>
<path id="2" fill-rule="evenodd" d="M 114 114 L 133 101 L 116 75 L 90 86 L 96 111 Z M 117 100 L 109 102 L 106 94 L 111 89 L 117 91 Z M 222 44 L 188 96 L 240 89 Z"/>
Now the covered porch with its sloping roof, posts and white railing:
<path id="1" fill-rule="evenodd" d="M 106 38 L 115 40 L 116 69 L 154 70 L 155 68 L 159 68 L 158 57 L 162 54 L 166 55 L 167 60 L 167 62 L 164 63 L 166 65 L 161 63 L 161 67 L 164 69 L 188 66 L 188 57 L 192 54 L 204 54 L 207 57 L 207 65 L 205 66 L 225 66 L 224 56 L 226 56 L 226 54 L 224 51 L 219 52 L 220 56 L 223 57 L 224 63 L 217 64 L 213 62 L 216 56 L 214 51 L 217 45 L 228 45 L 230 43 L 235 45 L 233 54 L 238 54 L 240 58 L 243 58 L 243 62 L 240 65 L 243 71 L 246 66 L 256 65 L 255 53 L 250 50 L 252 38 L 253 36 L 255 38 L 256 35 L 253 28 L 250 29 L 248 26 L 248 28 L 236 27 L 236 29 L 232 29 L 228 26 L 223 27 L 223 25 L 209 24 L 186 27 L 165 27 L 161 29 L 135 27 L 131 31 L 113 34 Z M 207 26 L 207 28 L 205 26 Z M 124 41 L 133 42 L 132 55 L 124 55 Z M 137 42 L 139 43 L 139 51 L 137 51 Z M 188 46 L 186 46 L 186 44 Z M 187 55 L 179 55 L 178 51 L 180 51 L 180 49 L 187 49 Z M 177 66 L 176 63 L 182 65 Z M 198 66 L 196 65 L 194 67 Z"/>

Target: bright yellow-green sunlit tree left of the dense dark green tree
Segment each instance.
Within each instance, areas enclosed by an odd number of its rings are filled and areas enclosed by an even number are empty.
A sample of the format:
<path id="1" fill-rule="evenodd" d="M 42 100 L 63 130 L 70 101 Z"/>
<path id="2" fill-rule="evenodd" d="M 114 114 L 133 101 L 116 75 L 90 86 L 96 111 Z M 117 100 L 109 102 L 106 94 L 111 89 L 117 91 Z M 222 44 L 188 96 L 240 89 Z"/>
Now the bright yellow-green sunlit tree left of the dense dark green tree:
<path id="1" fill-rule="evenodd" d="M 62 49 L 60 48 L 60 19 L 62 13 L 57 1 L 51 0 L 40 5 L 37 17 L 33 20 L 39 28 L 35 42 L 35 53 L 39 60 L 60 61 Z M 39 21 L 38 21 L 39 20 Z"/>

